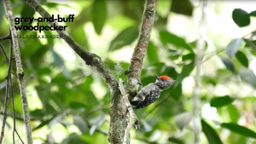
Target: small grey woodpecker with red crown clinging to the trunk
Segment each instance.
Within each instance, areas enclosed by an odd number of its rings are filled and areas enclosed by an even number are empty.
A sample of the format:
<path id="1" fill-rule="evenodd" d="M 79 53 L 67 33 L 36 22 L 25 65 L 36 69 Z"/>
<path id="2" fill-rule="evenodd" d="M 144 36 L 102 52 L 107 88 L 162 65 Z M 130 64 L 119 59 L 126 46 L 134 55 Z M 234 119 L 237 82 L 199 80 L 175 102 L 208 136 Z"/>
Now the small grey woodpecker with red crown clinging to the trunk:
<path id="1" fill-rule="evenodd" d="M 154 76 L 156 78 L 155 83 L 150 83 L 143 87 L 137 93 L 134 100 L 131 101 L 131 105 L 134 106 L 134 109 L 147 107 L 148 105 L 154 103 L 154 101 L 160 97 L 160 92 L 164 89 L 170 88 L 175 82 L 175 80 L 167 76 L 158 77 L 156 74 L 154 74 Z"/>

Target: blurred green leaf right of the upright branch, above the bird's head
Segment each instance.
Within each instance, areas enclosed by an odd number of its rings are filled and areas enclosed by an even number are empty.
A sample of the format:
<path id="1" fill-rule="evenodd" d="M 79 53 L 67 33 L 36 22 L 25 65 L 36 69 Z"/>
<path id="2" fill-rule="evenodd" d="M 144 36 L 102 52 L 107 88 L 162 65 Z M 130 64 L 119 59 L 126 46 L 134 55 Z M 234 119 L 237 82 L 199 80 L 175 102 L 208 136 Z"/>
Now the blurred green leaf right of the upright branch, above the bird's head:
<path id="1" fill-rule="evenodd" d="M 171 43 L 177 47 L 181 47 L 184 49 L 188 49 L 192 52 L 192 49 L 190 48 L 189 44 L 186 43 L 186 41 L 182 37 L 177 37 L 176 35 L 167 32 L 167 31 L 161 31 L 160 32 L 160 41 L 166 45 L 167 43 Z"/>

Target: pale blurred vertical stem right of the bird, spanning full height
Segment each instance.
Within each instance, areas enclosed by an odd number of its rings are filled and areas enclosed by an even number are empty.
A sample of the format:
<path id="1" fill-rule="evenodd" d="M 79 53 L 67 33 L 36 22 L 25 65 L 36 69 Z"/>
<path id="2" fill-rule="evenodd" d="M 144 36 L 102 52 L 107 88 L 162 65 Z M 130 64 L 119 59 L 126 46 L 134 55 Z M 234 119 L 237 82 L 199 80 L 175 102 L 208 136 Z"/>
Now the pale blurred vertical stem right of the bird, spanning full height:
<path id="1" fill-rule="evenodd" d="M 201 8 L 201 24 L 199 26 L 199 39 L 196 43 L 196 57 L 195 57 L 195 89 L 193 93 L 193 122 L 194 122 L 194 142 L 195 144 L 200 143 L 200 132 L 201 132 L 201 123 L 199 115 L 199 105 L 200 105 L 200 87 L 201 84 L 201 65 L 202 57 L 204 55 L 204 46 L 206 43 L 207 37 L 207 0 L 202 1 Z"/>

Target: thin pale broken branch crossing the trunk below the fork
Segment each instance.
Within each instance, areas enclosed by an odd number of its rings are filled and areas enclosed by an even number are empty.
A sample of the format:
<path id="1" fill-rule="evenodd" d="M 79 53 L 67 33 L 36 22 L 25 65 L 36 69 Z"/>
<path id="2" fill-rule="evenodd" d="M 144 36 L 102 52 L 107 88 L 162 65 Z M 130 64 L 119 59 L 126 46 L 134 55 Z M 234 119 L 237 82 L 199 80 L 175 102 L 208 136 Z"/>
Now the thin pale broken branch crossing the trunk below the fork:
<path id="1" fill-rule="evenodd" d="M 139 120 L 138 120 L 136 114 L 133 112 L 133 109 L 131 108 L 130 101 L 128 100 L 128 94 L 125 92 L 123 83 L 124 83 L 124 81 L 121 78 L 119 78 L 119 89 L 121 91 L 121 94 L 123 95 L 123 100 L 125 101 L 125 105 L 131 115 L 131 122 L 127 125 L 127 128 L 125 130 L 125 137 L 124 137 L 123 144 L 126 144 L 129 141 L 129 134 L 130 134 L 131 126 L 134 124 L 136 129 L 138 130 L 138 129 L 140 129 L 140 124 L 139 124 Z"/>

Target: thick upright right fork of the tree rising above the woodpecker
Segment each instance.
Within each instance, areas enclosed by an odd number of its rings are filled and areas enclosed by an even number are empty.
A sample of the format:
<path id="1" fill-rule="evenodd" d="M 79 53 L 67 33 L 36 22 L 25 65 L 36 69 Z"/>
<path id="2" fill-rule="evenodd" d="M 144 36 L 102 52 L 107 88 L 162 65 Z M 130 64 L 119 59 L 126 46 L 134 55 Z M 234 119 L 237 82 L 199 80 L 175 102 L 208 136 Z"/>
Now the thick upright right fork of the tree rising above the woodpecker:
<path id="1" fill-rule="evenodd" d="M 151 36 L 151 30 L 154 23 L 154 14 L 157 0 L 146 0 L 143 12 L 142 26 L 138 37 L 137 45 L 131 57 L 131 65 L 125 72 L 127 75 L 127 84 L 125 88 L 128 92 L 129 100 L 137 95 L 138 84 L 143 69 L 143 59 L 148 48 L 148 42 Z"/>

